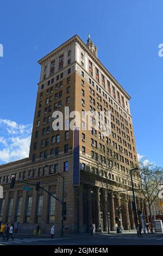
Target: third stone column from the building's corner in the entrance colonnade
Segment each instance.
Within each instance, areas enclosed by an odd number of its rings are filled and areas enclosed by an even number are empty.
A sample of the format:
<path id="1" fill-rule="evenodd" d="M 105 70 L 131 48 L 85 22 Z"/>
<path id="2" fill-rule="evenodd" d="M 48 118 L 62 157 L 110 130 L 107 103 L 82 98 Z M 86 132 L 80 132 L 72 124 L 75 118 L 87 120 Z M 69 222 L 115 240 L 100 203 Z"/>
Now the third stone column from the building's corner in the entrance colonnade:
<path id="1" fill-rule="evenodd" d="M 96 187 L 96 232 L 102 232 L 99 187 Z"/>

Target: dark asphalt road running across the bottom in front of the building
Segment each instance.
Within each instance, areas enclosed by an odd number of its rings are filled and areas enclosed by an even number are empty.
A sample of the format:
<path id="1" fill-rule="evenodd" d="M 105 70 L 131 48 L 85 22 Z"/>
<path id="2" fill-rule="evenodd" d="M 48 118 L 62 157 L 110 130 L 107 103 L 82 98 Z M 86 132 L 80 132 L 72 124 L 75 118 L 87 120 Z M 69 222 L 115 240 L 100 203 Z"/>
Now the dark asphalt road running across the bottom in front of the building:
<path id="1" fill-rule="evenodd" d="M 163 234 L 146 234 L 142 238 L 136 234 L 95 234 L 66 235 L 65 237 L 37 237 L 14 235 L 14 241 L 2 241 L 0 245 L 163 245 Z"/>

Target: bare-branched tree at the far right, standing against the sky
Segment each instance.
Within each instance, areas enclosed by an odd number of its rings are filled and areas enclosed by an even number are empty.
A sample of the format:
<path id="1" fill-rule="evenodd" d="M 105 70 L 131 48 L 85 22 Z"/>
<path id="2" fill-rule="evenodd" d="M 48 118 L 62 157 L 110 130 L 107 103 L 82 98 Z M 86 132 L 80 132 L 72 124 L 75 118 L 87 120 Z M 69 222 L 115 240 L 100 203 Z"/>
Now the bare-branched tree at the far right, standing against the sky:
<path id="1" fill-rule="evenodd" d="M 139 169 L 141 191 L 143 196 L 147 200 L 149 214 L 151 216 L 151 222 L 153 224 L 151 208 L 156 198 L 158 198 L 160 185 L 162 184 L 163 181 L 162 168 L 156 166 L 156 164 L 153 163 L 140 162 Z"/>

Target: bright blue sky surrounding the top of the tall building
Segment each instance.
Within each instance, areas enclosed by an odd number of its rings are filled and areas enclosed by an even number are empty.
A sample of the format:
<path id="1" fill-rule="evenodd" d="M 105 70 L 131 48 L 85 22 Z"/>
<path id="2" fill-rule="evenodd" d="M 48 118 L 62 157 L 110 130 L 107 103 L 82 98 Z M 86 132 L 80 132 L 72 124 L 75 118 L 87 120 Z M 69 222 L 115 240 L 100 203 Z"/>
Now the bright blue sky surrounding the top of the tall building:
<path id="1" fill-rule="evenodd" d="M 5 0 L 0 9 L 0 164 L 28 155 L 37 60 L 90 33 L 99 59 L 131 95 L 137 153 L 163 166 L 162 0 Z"/>

